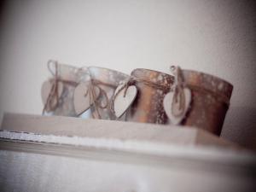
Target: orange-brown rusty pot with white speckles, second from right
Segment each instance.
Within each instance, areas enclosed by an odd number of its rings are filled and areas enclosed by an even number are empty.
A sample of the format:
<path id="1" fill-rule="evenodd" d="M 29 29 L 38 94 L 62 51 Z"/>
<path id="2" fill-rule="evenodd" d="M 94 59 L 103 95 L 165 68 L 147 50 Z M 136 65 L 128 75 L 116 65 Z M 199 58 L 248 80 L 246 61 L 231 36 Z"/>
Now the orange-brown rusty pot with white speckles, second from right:
<path id="1" fill-rule="evenodd" d="M 137 87 L 137 97 L 126 113 L 127 121 L 166 124 L 168 118 L 163 99 L 170 90 L 173 76 L 157 71 L 137 68 L 131 72 Z"/>

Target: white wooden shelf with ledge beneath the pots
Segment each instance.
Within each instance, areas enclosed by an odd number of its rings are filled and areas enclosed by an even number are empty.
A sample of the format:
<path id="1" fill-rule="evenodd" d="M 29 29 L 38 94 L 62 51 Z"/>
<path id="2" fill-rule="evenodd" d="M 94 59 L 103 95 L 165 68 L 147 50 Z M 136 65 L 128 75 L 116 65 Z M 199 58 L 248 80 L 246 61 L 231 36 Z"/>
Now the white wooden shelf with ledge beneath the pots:
<path id="1" fill-rule="evenodd" d="M 253 191 L 255 155 L 191 127 L 11 114 L 5 191 Z"/>

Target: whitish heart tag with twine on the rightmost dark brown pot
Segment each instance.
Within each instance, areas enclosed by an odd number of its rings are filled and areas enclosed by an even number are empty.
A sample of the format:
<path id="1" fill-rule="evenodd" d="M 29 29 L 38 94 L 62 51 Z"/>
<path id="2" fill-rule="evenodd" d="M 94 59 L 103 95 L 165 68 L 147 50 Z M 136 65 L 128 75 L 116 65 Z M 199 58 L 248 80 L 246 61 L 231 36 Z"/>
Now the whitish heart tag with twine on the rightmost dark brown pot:
<path id="1" fill-rule="evenodd" d="M 168 118 L 171 120 L 172 124 L 178 125 L 185 118 L 186 113 L 189 110 L 190 102 L 191 102 L 191 91 L 188 88 L 183 88 L 183 99 L 184 99 L 184 108 L 182 111 L 179 111 L 180 108 L 177 105 L 173 104 L 174 99 L 174 91 L 170 91 L 166 94 L 164 98 L 164 108 Z M 179 115 L 175 115 L 175 113 L 179 113 Z"/>

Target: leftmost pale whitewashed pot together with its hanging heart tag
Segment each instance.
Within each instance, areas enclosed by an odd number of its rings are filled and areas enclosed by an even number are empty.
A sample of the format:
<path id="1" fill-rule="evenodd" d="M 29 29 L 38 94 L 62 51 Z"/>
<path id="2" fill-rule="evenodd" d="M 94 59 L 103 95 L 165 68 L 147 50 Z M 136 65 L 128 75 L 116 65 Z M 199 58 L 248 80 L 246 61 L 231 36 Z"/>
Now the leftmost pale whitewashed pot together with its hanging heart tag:
<path id="1" fill-rule="evenodd" d="M 73 91 L 81 81 L 90 79 L 88 73 L 79 67 L 60 64 L 57 61 L 48 62 L 52 77 L 42 85 L 44 115 L 77 116 L 73 105 Z M 57 93 L 51 94 L 53 86 L 58 84 Z M 55 100 L 54 105 L 46 103 Z"/>

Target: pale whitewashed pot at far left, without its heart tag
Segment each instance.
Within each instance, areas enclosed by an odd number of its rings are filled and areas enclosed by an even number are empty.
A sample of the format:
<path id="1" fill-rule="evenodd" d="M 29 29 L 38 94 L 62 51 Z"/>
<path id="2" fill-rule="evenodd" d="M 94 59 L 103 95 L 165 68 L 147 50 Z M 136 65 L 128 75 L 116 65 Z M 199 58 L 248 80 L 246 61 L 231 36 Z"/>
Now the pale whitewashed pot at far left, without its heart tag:
<path id="1" fill-rule="evenodd" d="M 57 68 L 54 68 L 56 65 Z M 54 82 L 57 79 L 63 84 L 63 91 L 61 96 L 58 96 L 57 106 L 55 108 L 47 108 L 46 106 L 44 115 L 77 116 L 73 105 L 73 91 L 80 81 L 86 81 L 90 79 L 90 76 L 82 68 L 60 64 L 57 61 L 49 61 L 49 72 L 52 73 L 49 81 Z"/>

